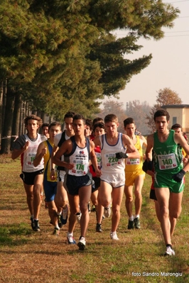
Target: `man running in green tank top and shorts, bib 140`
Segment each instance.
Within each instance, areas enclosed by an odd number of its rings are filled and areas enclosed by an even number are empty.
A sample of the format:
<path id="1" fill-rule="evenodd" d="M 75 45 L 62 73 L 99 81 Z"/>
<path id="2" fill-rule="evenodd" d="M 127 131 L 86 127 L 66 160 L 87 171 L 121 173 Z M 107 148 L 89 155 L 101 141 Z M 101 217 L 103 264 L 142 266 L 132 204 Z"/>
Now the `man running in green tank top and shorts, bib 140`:
<path id="1" fill-rule="evenodd" d="M 146 160 L 148 170 L 154 164 L 154 187 L 160 206 L 160 221 L 166 243 L 165 255 L 175 255 L 171 233 L 175 230 L 176 219 L 181 213 L 184 175 L 182 148 L 189 154 L 189 145 L 183 135 L 168 130 L 170 116 L 165 110 L 154 114 L 156 133 L 148 135 Z M 153 163 L 152 163 L 153 150 Z"/>

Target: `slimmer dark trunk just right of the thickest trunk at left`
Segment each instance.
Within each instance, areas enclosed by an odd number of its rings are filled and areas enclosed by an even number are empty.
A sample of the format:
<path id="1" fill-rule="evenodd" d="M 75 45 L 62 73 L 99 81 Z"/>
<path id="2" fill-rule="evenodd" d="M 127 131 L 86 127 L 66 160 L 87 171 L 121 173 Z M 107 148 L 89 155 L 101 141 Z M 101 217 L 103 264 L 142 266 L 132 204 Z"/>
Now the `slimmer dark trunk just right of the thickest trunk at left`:
<path id="1" fill-rule="evenodd" d="M 20 113 L 21 113 L 21 94 L 16 94 L 14 101 L 14 109 L 13 109 L 11 150 L 13 148 L 13 141 L 16 139 L 16 137 L 18 137 L 19 134 Z"/>

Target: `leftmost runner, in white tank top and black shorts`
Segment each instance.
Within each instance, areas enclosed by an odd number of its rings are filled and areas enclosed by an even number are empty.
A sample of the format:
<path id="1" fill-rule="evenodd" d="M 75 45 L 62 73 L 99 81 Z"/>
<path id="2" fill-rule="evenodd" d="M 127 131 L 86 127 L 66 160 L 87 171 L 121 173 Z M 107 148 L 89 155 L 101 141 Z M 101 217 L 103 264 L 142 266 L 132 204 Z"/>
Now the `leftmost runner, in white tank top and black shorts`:
<path id="1" fill-rule="evenodd" d="M 41 206 L 41 187 L 43 184 L 43 159 L 38 167 L 34 167 L 33 160 L 36 157 L 38 145 L 46 140 L 44 135 L 37 133 L 42 125 L 42 120 L 36 115 L 27 116 L 24 119 L 27 129 L 26 135 L 21 135 L 15 141 L 12 159 L 21 155 L 23 186 L 26 191 L 28 209 L 31 213 L 31 228 L 33 231 L 40 231 L 38 216 Z"/>

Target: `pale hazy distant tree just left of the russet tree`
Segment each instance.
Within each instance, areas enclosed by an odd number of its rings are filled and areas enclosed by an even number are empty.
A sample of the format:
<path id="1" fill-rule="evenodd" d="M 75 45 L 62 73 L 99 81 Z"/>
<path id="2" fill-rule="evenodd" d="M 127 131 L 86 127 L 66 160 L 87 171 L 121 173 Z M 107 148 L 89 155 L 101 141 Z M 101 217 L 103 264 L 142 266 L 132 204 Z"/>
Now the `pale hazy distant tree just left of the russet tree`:
<path id="1" fill-rule="evenodd" d="M 151 106 L 149 106 L 146 101 L 140 102 L 139 100 L 134 100 L 126 104 L 126 116 L 134 118 L 137 130 L 141 132 L 142 135 L 149 133 L 149 128 L 146 126 L 146 115 L 148 115 L 150 111 Z"/>

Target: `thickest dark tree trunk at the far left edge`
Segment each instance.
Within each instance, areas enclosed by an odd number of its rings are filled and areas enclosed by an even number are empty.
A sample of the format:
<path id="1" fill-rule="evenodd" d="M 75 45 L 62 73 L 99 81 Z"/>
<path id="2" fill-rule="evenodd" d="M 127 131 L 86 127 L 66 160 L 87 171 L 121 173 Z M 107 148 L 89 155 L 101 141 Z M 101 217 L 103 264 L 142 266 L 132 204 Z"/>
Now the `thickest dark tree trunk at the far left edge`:
<path id="1" fill-rule="evenodd" d="M 1 138 L 1 151 L 0 154 L 11 153 L 11 127 L 13 121 L 13 104 L 15 98 L 15 91 L 7 89 L 6 94 L 6 107 L 4 115 L 4 124 Z"/>

